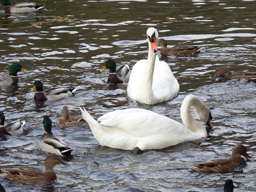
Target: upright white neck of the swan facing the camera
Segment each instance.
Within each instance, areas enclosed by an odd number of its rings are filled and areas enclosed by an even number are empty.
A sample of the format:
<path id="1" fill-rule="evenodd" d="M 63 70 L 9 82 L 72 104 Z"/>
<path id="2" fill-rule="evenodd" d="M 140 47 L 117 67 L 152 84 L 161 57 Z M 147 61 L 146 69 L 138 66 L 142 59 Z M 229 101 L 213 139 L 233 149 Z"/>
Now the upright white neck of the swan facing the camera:
<path id="1" fill-rule="evenodd" d="M 154 74 L 154 68 L 155 68 L 155 62 L 156 62 L 156 53 L 152 51 L 150 41 L 148 41 L 148 47 L 149 49 L 148 49 L 146 69 L 144 72 L 143 80 L 140 85 L 139 92 L 137 94 L 137 100 L 143 103 L 145 103 L 146 101 L 141 100 L 141 98 L 155 97 L 152 89 L 152 84 L 153 84 L 153 74 Z M 146 103 L 146 104 L 150 104 L 150 103 Z"/>

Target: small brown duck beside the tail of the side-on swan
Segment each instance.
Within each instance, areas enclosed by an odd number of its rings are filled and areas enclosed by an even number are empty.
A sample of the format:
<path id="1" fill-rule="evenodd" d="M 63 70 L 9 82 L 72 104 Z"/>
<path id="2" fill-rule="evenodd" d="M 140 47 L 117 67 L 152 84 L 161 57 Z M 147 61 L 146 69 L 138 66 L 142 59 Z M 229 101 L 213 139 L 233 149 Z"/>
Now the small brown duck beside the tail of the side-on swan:
<path id="1" fill-rule="evenodd" d="M 63 106 L 62 117 L 59 119 L 62 126 L 88 126 L 88 123 L 82 117 L 69 117 L 68 106 Z"/>

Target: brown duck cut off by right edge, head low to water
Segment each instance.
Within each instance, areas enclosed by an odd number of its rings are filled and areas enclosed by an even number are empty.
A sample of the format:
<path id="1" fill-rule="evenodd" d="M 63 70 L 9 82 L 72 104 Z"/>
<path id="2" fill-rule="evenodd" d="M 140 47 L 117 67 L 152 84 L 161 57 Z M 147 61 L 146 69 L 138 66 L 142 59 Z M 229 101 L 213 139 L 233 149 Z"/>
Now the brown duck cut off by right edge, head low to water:
<path id="1" fill-rule="evenodd" d="M 221 77 L 221 80 L 247 79 L 256 81 L 256 72 L 231 73 L 227 68 L 219 68 L 215 71 L 214 77 Z"/>

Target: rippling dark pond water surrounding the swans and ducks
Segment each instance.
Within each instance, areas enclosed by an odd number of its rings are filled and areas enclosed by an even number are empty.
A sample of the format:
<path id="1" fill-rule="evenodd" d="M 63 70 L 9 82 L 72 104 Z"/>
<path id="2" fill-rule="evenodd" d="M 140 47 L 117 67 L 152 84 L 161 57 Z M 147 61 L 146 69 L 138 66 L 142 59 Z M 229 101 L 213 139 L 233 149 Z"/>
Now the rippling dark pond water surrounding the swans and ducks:
<path id="1" fill-rule="evenodd" d="M 13 1 L 13 4 L 22 1 Z M 219 67 L 232 72 L 255 72 L 255 1 L 37 1 L 42 14 L 5 15 L 1 6 L 1 71 L 19 62 L 29 73 L 18 73 L 19 83 L 1 87 L 1 111 L 6 122 L 26 121 L 26 134 L 0 137 L 2 167 L 30 165 L 44 169 L 45 154 L 37 150 L 49 115 L 53 133 L 73 148 L 62 158 L 68 167 L 55 166 L 51 184 L 24 185 L 1 175 L 7 191 L 222 191 L 232 179 L 236 191 L 255 191 L 254 82 L 218 83 L 209 77 Z M 205 47 L 197 57 L 161 57 L 180 84 L 179 95 L 168 102 L 145 105 L 127 97 L 127 84 L 108 84 L 104 61 L 132 69 L 147 57 L 146 30 L 155 27 L 160 38 L 174 45 Z M 74 86 L 76 94 L 59 101 L 35 102 L 30 90 L 35 80 L 44 88 Z M 209 137 L 140 155 L 100 146 L 89 127 L 58 124 L 63 105 L 72 116 L 84 106 L 96 119 L 127 108 L 143 108 L 181 122 L 180 106 L 188 94 L 197 95 L 210 109 L 214 129 Z M 250 162 L 230 173 L 193 171 L 200 161 L 229 158 L 243 144 Z"/>

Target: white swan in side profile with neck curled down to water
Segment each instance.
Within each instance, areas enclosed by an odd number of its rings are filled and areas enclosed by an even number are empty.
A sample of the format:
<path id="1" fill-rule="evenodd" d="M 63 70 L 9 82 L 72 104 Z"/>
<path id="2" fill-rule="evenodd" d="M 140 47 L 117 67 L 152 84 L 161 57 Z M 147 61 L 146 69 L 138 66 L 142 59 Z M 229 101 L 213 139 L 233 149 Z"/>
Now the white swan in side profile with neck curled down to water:
<path id="1" fill-rule="evenodd" d="M 205 138 L 207 131 L 191 116 L 191 106 L 197 118 L 212 127 L 209 108 L 195 95 L 186 96 L 182 102 L 180 113 L 185 125 L 144 109 L 116 110 L 100 117 L 98 123 L 84 108 L 80 110 L 101 145 L 143 151 Z"/>

